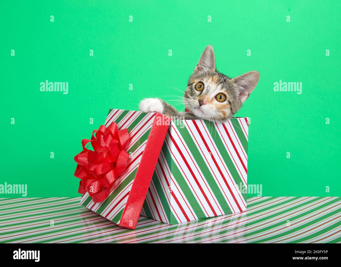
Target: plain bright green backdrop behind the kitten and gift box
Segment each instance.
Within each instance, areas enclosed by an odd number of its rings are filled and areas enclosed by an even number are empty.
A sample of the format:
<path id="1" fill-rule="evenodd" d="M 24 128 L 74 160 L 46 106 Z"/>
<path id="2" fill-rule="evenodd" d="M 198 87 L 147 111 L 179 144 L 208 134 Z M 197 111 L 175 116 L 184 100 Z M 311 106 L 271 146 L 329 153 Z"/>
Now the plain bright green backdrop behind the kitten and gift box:
<path id="1" fill-rule="evenodd" d="M 251 118 L 248 183 L 264 196 L 341 196 L 341 2 L 240 2 L 2 1 L 0 183 L 78 196 L 81 139 L 109 108 L 181 96 L 172 87 L 186 87 L 211 44 L 220 72 L 260 72 L 236 114 Z M 68 81 L 69 93 L 41 92 L 46 79 Z M 279 80 L 302 82 L 302 94 L 275 92 Z"/>

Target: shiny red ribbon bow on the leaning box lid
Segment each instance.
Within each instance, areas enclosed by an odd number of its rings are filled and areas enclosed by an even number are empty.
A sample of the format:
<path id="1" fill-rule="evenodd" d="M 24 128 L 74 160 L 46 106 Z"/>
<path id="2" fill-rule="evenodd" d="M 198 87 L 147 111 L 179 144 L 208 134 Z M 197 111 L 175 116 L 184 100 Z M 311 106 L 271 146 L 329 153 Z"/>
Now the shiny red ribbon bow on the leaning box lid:
<path id="1" fill-rule="evenodd" d="M 94 151 L 85 147 L 89 142 Z M 116 122 L 93 130 L 91 140 L 83 139 L 83 151 L 75 155 L 78 163 L 75 176 L 81 179 L 78 193 L 89 192 L 94 202 L 103 201 L 114 181 L 126 170 L 128 143 L 128 130 L 118 130 Z"/>

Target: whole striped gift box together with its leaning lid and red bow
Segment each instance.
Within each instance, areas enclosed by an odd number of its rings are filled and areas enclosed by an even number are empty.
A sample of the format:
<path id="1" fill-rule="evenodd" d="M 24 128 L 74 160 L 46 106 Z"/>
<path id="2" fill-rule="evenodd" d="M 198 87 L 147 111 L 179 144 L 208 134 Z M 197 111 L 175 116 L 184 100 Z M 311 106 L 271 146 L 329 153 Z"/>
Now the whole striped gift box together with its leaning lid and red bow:
<path id="1" fill-rule="evenodd" d="M 120 226 L 135 229 L 140 214 L 177 224 L 246 210 L 247 118 L 170 121 L 110 109 L 82 145 L 81 205 Z"/>

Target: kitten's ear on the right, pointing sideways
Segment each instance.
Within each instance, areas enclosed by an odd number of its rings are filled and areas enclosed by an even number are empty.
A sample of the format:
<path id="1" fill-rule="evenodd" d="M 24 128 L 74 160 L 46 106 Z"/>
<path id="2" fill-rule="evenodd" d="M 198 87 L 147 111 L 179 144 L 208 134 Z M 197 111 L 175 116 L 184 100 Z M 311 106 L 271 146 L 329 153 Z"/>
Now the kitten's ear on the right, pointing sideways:
<path id="1" fill-rule="evenodd" d="M 259 80 L 258 71 L 250 71 L 231 80 L 236 85 L 236 89 L 239 93 L 239 99 L 241 103 L 248 99 L 249 95 L 256 87 L 258 80 Z"/>

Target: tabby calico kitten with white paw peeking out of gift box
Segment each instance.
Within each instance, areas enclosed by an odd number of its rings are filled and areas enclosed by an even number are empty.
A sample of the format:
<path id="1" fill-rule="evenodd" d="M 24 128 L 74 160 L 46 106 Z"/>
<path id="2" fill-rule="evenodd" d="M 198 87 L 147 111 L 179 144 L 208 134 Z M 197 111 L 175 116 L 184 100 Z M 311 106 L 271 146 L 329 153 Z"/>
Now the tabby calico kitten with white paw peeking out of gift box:
<path id="1" fill-rule="evenodd" d="M 240 109 L 256 87 L 259 80 L 257 71 L 250 71 L 236 78 L 229 78 L 216 69 L 214 51 L 208 45 L 194 73 L 190 76 L 183 102 L 187 112 L 177 110 L 158 98 L 147 98 L 141 101 L 142 112 L 158 112 L 172 119 L 206 119 L 225 122 Z"/>

